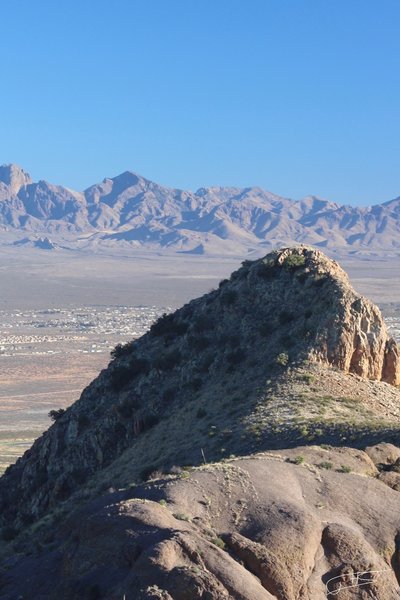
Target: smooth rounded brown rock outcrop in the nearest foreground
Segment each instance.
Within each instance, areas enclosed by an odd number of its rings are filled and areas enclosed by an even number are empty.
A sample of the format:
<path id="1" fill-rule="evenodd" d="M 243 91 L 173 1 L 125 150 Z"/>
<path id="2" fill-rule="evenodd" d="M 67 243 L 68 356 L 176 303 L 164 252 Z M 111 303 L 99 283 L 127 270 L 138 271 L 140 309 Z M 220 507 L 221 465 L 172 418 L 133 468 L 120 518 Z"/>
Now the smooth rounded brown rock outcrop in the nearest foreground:
<path id="1" fill-rule="evenodd" d="M 297 448 L 108 494 L 43 524 L 0 598 L 395 600 L 400 495 L 374 469 L 359 450 Z"/>

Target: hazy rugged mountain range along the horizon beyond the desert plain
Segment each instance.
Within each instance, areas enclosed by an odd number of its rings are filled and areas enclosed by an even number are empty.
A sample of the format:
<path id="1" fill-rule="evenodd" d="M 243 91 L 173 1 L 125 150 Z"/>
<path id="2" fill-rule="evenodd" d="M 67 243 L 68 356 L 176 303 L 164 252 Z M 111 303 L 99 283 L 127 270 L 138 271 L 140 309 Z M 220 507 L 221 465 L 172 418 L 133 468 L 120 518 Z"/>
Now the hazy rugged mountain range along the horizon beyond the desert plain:
<path id="1" fill-rule="evenodd" d="M 247 255 L 292 243 L 339 253 L 400 253 L 400 197 L 371 207 L 258 187 L 171 189 L 126 171 L 84 192 L 0 166 L 0 244 L 44 250 L 142 248 Z"/>

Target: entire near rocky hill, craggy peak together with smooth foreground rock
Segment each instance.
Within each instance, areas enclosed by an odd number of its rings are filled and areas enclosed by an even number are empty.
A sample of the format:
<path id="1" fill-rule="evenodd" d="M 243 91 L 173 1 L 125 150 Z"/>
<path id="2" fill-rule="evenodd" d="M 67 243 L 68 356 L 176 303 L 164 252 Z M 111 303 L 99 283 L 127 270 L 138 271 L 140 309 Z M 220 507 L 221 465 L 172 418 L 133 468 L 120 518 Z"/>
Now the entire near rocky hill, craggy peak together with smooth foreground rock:
<path id="1" fill-rule="evenodd" d="M 400 598 L 399 384 L 336 262 L 245 261 L 7 469 L 0 598 Z"/>

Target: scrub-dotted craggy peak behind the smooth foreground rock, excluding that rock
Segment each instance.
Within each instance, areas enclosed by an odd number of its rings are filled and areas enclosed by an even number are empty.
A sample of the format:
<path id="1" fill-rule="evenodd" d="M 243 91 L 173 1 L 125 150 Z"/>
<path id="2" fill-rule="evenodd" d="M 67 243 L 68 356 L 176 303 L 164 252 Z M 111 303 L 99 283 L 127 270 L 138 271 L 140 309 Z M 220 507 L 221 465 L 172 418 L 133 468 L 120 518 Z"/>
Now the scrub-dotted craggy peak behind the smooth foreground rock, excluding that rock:
<path id="1" fill-rule="evenodd" d="M 95 493 L 97 477 L 125 483 L 151 467 L 196 464 L 201 449 L 217 460 L 310 439 L 349 436 L 361 444 L 370 429 L 375 436 L 376 427 L 398 430 L 395 388 L 348 381 L 330 368 L 316 376 L 304 372 L 309 361 L 399 382 L 397 347 L 379 310 L 337 263 L 307 247 L 246 261 L 218 290 L 116 350 L 109 368 L 1 478 L 0 523 L 21 528 L 89 481 Z M 276 386 L 302 365 L 293 393 L 279 399 Z M 319 401 L 325 380 L 331 388 Z M 300 382 L 301 391 L 293 387 Z"/>

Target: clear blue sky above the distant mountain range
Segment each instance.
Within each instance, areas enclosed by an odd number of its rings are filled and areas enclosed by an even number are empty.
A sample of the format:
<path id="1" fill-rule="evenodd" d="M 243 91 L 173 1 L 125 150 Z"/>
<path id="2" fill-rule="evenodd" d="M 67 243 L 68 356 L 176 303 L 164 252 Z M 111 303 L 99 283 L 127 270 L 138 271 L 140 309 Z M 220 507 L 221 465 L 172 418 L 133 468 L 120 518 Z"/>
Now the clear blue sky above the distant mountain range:
<path id="1" fill-rule="evenodd" d="M 399 0 L 6 0 L 0 163 L 84 189 L 400 195 Z"/>

